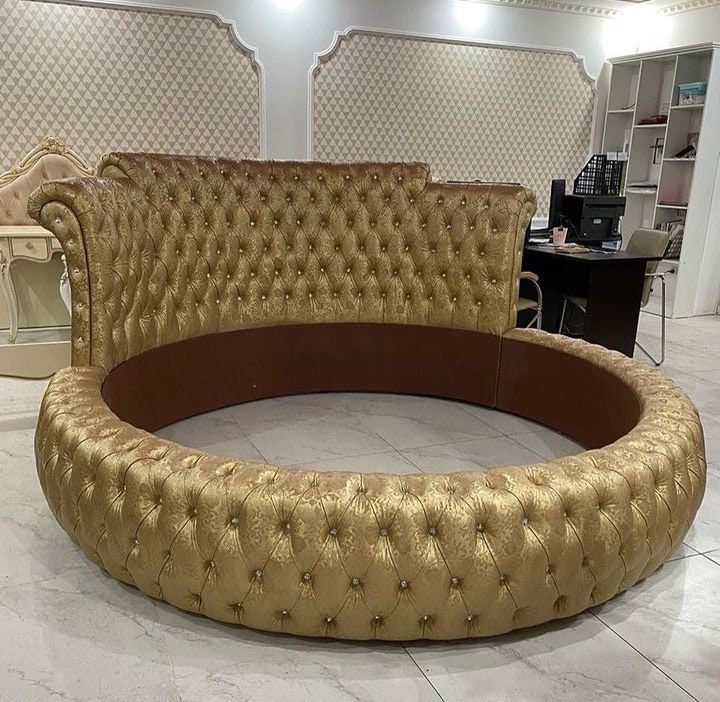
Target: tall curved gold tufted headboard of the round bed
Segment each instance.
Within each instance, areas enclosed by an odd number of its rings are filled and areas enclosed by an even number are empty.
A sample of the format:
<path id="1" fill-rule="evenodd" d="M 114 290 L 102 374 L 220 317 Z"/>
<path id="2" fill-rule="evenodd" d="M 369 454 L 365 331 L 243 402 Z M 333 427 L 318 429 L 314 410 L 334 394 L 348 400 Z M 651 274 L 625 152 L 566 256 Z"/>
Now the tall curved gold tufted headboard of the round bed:
<path id="1" fill-rule="evenodd" d="M 514 326 L 533 194 L 445 185 L 417 163 L 110 154 L 30 214 L 65 250 L 73 364 L 244 327 Z"/>

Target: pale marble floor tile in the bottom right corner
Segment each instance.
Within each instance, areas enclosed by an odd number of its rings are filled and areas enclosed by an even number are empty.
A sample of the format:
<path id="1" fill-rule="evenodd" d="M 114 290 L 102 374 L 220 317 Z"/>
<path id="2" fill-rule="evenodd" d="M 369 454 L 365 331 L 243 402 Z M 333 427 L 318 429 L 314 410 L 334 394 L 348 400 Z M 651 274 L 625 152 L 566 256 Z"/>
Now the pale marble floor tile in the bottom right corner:
<path id="1" fill-rule="evenodd" d="M 720 568 L 703 556 L 666 563 L 594 612 L 696 699 L 720 699 Z"/>

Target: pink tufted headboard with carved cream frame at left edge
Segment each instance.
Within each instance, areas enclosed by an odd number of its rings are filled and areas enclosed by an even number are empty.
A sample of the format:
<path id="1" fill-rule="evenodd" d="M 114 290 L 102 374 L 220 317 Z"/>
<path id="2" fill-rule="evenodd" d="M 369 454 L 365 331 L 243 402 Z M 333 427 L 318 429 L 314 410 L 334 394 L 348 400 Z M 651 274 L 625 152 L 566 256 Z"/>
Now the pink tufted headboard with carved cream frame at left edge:
<path id="1" fill-rule="evenodd" d="M 20 163 L 0 175 L 0 226 L 37 224 L 28 214 L 30 194 L 58 178 L 92 175 L 88 166 L 60 139 L 46 137 Z"/>

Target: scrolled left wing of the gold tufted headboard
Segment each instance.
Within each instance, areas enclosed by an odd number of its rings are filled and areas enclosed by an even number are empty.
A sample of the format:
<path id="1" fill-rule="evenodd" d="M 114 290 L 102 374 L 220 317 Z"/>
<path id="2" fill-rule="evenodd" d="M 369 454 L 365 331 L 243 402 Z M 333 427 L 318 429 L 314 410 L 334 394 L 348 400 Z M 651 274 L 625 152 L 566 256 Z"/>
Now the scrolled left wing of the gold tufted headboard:
<path id="1" fill-rule="evenodd" d="M 157 211 L 130 181 L 68 178 L 35 190 L 28 213 L 57 237 L 65 253 L 72 365 L 110 370 L 124 360 L 128 337 L 143 323 Z"/>

